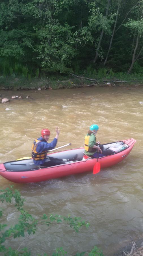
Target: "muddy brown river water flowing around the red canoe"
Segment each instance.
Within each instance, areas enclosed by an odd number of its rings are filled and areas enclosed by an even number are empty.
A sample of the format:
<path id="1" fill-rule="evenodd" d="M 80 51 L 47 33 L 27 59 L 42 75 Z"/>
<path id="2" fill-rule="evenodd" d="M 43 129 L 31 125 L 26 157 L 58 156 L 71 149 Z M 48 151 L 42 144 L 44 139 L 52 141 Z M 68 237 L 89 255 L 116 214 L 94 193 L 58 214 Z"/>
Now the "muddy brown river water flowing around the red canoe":
<path id="1" fill-rule="evenodd" d="M 14 184 L 26 199 L 25 209 L 38 218 L 46 214 L 81 216 L 90 228 L 76 234 L 67 226 L 39 227 L 24 241 L 32 255 L 63 247 L 68 255 L 90 251 L 95 245 L 104 255 L 116 255 L 121 247 L 142 238 L 142 115 L 143 87 L 97 87 L 63 90 L 0 91 L 2 98 L 22 96 L 0 104 L 0 162 L 31 156 L 33 139 L 42 128 L 55 136 L 60 127 L 57 146 L 69 142 L 69 148 L 83 146 L 84 135 L 92 123 L 99 125 L 97 141 L 108 143 L 134 138 L 136 144 L 129 156 L 116 166 L 96 175 L 83 173 L 33 184 L 15 184 L 0 177 L 0 187 Z M 29 95 L 30 98 L 26 98 Z M 65 148 L 64 148 L 65 149 Z M 14 206 L 3 204 L 3 222 L 16 223 Z M 20 243 L 23 239 L 20 239 Z M 7 245 L 19 247 L 19 240 Z"/>

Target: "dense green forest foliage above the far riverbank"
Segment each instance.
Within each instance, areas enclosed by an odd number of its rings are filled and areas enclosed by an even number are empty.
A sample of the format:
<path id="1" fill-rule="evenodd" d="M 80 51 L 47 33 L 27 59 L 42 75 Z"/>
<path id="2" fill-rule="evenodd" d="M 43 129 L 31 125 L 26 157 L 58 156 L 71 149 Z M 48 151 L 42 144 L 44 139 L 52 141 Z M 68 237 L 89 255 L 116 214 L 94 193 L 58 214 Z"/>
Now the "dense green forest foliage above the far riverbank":
<path id="1" fill-rule="evenodd" d="M 0 75 L 47 77 L 47 75 L 82 73 L 89 77 L 126 72 L 139 35 L 139 64 L 142 67 L 142 0 L 1 0 L 0 2 Z M 103 68 L 117 7 L 120 3 L 116 32 Z M 122 25 L 122 26 L 121 26 Z M 118 29 L 119 28 L 119 29 Z M 93 63 L 101 31 L 104 35 Z M 37 68 L 38 67 L 38 68 Z M 87 67 L 87 68 L 86 68 Z M 139 67 L 139 66 L 138 66 Z M 140 73 L 140 69 L 136 73 Z M 134 70 L 135 70 L 134 69 Z M 114 73 L 109 72 L 113 77 Z"/>

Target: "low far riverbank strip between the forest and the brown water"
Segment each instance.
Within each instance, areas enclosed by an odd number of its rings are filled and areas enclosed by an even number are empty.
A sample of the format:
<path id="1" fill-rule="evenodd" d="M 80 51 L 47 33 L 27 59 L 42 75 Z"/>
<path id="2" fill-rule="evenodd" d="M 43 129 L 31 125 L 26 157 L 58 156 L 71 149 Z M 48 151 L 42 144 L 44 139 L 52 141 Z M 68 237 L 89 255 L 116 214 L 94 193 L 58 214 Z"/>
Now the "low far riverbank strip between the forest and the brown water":
<path id="1" fill-rule="evenodd" d="M 50 77 L 50 78 L 24 78 L 24 77 L 0 77 L 0 90 L 36 90 L 38 88 L 46 89 L 64 89 L 64 88 L 80 88 L 95 86 L 142 86 L 143 79 L 126 79 L 118 78 L 88 78 L 77 75 L 69 77 Z"/>

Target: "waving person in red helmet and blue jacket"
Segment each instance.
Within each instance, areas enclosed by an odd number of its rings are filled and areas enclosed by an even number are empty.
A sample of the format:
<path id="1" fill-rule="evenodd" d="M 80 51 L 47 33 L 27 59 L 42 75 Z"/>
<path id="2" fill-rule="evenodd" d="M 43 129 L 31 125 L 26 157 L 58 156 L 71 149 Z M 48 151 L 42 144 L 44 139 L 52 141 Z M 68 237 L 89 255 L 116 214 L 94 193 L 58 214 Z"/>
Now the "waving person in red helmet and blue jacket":
<path id="1" fill-rule="evenodd" d="M 59 133 L 60 130 L 58 129 L 58 127 L 56 127 L 56 136 L 52 142 L 48 143 L 47 141 L 49 140 L 50 131 L 49 129 L 42 129 L 41 137 L 35 139 L 32 144 L 32 158 L 34 164 L 38 166 L 40 165 L 44 167 L 50 167 L 54 165 L 64 164 L 66 163 L 66 161 L 68 161 L 66 159 L 58 159 L 47 156 L 47 151 L 55 148 Z"/>

